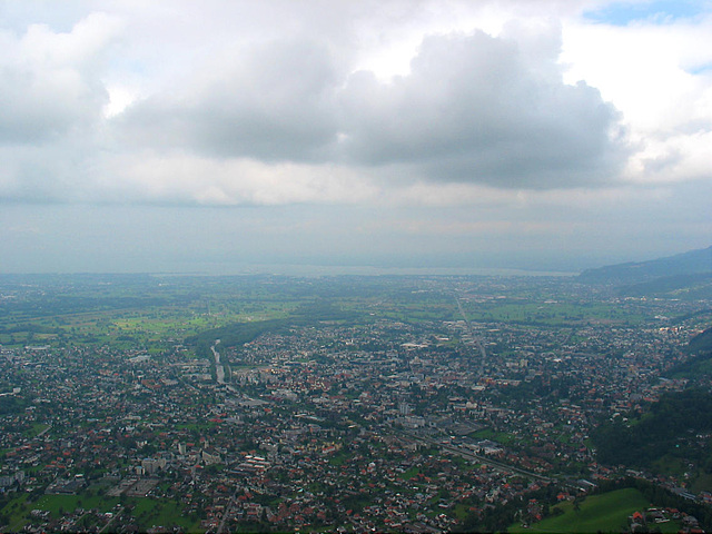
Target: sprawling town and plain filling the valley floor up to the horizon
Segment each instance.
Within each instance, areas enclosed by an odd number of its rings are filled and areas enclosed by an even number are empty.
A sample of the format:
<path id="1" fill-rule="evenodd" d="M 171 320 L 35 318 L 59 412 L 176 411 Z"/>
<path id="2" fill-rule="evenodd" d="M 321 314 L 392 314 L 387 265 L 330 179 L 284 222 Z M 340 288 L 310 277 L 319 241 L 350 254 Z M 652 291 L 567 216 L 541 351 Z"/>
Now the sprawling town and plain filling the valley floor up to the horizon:
<path id="1" fill-rule="evenodd" d="M 206 277 L 188 298 L 156 277 L 87 283 L 103 297 L 72 308 L 20 281 L 2 286 L 3 532 L 516 530 L 622 479 L 712 503 L 702 462 L 610 465 L 595 441 L 709 390 L 675 373 L 709 299 L 435 276 Z M 147 284 L 148 312 L 126 299 Z M 680 439 L 709 457 L 710 433 Z M 611 530 L 645 517 L 704 526 L 646 506 Z"/>

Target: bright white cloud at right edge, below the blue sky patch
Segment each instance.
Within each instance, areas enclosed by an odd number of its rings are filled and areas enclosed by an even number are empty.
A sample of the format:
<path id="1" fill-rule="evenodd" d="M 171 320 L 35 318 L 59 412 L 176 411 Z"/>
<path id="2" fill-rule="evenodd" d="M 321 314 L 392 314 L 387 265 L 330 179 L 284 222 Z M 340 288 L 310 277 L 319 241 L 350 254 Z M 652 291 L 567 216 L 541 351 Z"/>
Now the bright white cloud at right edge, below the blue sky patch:
<path id="1" fill-rule="evenodd" d="M 636 151 L 623 179 L 712 177 L 712 17 L 630 26 L 570 24 L 563 61 L 621 110 Z M 592 46 L 595 43 L 595 46 Z"/>

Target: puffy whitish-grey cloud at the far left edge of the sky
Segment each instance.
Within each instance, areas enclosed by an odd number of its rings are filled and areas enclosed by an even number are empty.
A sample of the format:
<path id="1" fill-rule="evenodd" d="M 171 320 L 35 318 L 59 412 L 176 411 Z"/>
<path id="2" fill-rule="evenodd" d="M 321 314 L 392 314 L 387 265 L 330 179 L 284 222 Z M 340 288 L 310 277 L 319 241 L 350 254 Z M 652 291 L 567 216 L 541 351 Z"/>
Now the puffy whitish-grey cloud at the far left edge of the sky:
<path id="1" fill-rule="evenodd" d="M 2 32 L 0 142 L 38 144 L 98 120 L 107 100 L 99 63 L 120 26 L 95 13 L 69 33 L 42 24 L 19 39 Z"/>

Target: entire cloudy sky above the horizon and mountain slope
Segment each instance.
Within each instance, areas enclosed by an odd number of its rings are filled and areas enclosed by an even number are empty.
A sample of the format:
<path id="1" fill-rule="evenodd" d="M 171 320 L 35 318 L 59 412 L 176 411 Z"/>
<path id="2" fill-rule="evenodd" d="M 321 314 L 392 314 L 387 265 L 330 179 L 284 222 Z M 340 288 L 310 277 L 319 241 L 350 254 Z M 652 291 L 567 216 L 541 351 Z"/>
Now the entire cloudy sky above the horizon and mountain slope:
<path id="1" fill-rule="evenodd" d="M 712 244 L 710 0 L 0 0 L 0 273 Z"/>

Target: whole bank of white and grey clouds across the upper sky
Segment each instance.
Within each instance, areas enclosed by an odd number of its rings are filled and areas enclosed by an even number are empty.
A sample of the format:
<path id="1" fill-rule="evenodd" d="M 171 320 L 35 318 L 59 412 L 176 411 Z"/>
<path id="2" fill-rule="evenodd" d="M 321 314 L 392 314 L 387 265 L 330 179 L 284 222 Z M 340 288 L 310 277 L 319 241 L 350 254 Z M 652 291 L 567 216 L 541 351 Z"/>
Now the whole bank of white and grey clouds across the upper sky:
<path id="1" fill-rule="evenodd" d="M 37 145 L 71 137 L 63 159 L 78 166 L 76 187 L 93 180 L 95 190 L 66 198 L 96 197 L 127 172 L 92 178 L 92 169 L 146 148 L 216 166 L 350 167 L 354 184 L 379 176 L 387 187 L 408 179 L 600 187 L 699 179 L 709 170 L 700 149 L 711 85 L 694 69 L 710 61 L 701 49 L 712 47 L 693 46 L 710 40 L 709 19 L 611 27 L 574 18 L 586 2 L 557 1 L 392 1 L 380 10 L 280 1 L 98 6 L 111 14 L 87 13 L 70 31 L 30 24 L 19 38 L 2 33 L 0 87 L 13 106 L 0 111 L 0 138 Z M 14 168 L 27 175 L 23 161 Z M 218 195 L 225 186 L 210 174 L 192 177 L 191 189 L 212 190 L 200 197 L 208 204 L 314 196 L 285 195 L 290 186 L 260 182 L 263 175 L 248 180 L 261 191 L 254 196 Z M 42 182 L 23 176 L 11 178 L 41 197 Z M 257 184 L 277 190 L 267 195 Z M 108 199 L 120 189 L 107 189 Z M 152 200 L 157 191 L 167 200 L 198 198 L 157 185 Z"/>

